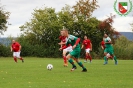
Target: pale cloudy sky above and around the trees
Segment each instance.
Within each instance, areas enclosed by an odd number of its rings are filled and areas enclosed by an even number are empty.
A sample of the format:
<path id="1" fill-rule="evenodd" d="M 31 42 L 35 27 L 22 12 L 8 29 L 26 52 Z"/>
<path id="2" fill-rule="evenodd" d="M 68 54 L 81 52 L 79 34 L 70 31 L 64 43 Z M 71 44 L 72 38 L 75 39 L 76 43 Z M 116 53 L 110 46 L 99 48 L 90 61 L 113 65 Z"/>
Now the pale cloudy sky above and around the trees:
<path id="1" fill-rule="evenodd" d="M 1 0 L 0 4 L 4 6 L 6 11 L 9 11 L 10 18 L 8 29 L 4 32 L 4 35 L 0 37 L 17 37 L 20 35 L 19 27 L 25 22 L 28 22 L 34 12 L 35 8 L 41 8 L 44 6 L 52 7 L 56 9 L 56 12 L 60 11 L 65 4 L 73 6 L 78 0 Z M 119 16 L 114 11 L 114 2 L 116 0 L 97 0 L 100 8 L 94 11 L 93 16 L 99 20 L 104 20 L 110 13 L 116 15 L 114 19 L 113 27 L 119 32 L 131 32 L 130 23 L 133 23 L 133 10 L 125 16 Z M 117 1 L 129 1 L 129 0 L 117 0 Z M 133 0 L 132 0 L 133 3 Z"/>

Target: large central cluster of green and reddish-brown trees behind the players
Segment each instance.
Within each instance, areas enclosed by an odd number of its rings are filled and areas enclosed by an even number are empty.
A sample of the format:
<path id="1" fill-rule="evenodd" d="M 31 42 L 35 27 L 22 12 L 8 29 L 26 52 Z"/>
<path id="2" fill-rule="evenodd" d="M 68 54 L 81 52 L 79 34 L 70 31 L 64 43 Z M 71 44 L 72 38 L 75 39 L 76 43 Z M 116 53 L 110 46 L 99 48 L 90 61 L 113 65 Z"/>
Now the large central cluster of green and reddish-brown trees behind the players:
<path id="1" fill-rule="evenodd" d="M 22 34 L 17 38 L 22 45 L 22 56 L 61 57 L 58 45 L 60 29 L 66 27 L 81 41 L 87 35 L 93 44 L 92 55 L 99 57 L 103 34 L 108 33 L 114 43 L 119 33 L 112 26 L 114 15 L 103 21 L 92 16 L 97 8 L 96 0 L 79 0 L 74 6 L 66 5 L 59 12 L 48 7 L 34 9 L 32 19 L 20 27 Z"/>

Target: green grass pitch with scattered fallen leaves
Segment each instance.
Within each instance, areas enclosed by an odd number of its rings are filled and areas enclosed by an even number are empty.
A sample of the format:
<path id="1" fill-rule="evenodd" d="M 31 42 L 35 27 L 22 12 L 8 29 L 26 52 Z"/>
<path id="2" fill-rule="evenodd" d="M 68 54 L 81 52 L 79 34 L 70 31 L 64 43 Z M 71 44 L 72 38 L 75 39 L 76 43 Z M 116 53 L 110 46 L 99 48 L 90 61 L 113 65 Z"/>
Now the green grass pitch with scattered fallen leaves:
<path id="1" fill-rule="evenodd" d="M 83 60 L 81 60 L 83 62 Z M 46 69 L 53 64 L 52 71 Z M 76 64 L 77 65 L 77 64 Z M 70 72 L 71 65 L 63 67 L 62 59 L 25 58 L 25 63 L 14 63 L 12 58 L 0 58 L 0 88 L 132 88 L 133 61 L 119 60 L 114 65 L 109 60 L 93 60 L 84 64 L 88 72 L 81 72 L 77 65 Z"/>

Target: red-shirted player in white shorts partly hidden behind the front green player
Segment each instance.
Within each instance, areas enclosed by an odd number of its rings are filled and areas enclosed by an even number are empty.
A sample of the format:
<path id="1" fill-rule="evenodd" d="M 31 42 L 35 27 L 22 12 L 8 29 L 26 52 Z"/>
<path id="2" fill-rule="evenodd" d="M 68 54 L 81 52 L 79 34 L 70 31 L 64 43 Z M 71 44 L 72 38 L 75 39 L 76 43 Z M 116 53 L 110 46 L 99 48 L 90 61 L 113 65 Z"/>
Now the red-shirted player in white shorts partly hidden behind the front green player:
<path id="1" fill-rule="evenodd" d="M 61 33 L 61 36 L 59 37 L 59 39 L 61 40 L 61 42 L 58 44 L 61 45 L 61 47 L 59 50 L 63 50 L 64 67 L 67 67 L 68 63 L 66 59 L 66 53 L 72 51 L 72 46 L 70 44 L 66 46 L 66 37 L 63 36 L 62 31 L 60 31 L 60 33 Z"/>

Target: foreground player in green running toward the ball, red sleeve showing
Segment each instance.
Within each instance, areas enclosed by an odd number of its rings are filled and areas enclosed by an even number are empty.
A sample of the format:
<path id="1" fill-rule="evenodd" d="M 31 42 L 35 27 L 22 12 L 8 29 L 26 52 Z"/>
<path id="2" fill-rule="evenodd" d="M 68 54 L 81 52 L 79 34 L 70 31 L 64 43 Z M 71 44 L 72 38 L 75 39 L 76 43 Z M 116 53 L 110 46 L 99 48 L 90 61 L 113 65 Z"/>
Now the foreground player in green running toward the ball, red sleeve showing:
<path id="1" fill-rule="evenodd" d="M 83 66 L 82 62 L 79 61 L 79 56 L 80 56 L 80 38 L 77 38 L 73 35 L 69 35 L 68 34 L 68 30 L 67 29 L 63 29 L 63 36 L 66 36 L 67 41 L 66 41 L 66 45 L 71 44 L 72 45 L 72 49 L 73 51 L 70 52 L 66 58 L 68 59 L 68 61 L 72 64 L 72 69 L 71 71 L 74 71 L 75 69 L 77 69 L 76 65 L 74 64 L 73 60 L 71 58 L 73 58 L 80 67 L 82 67 L 82 72 L 87 72 L 87 69 Z"/>

